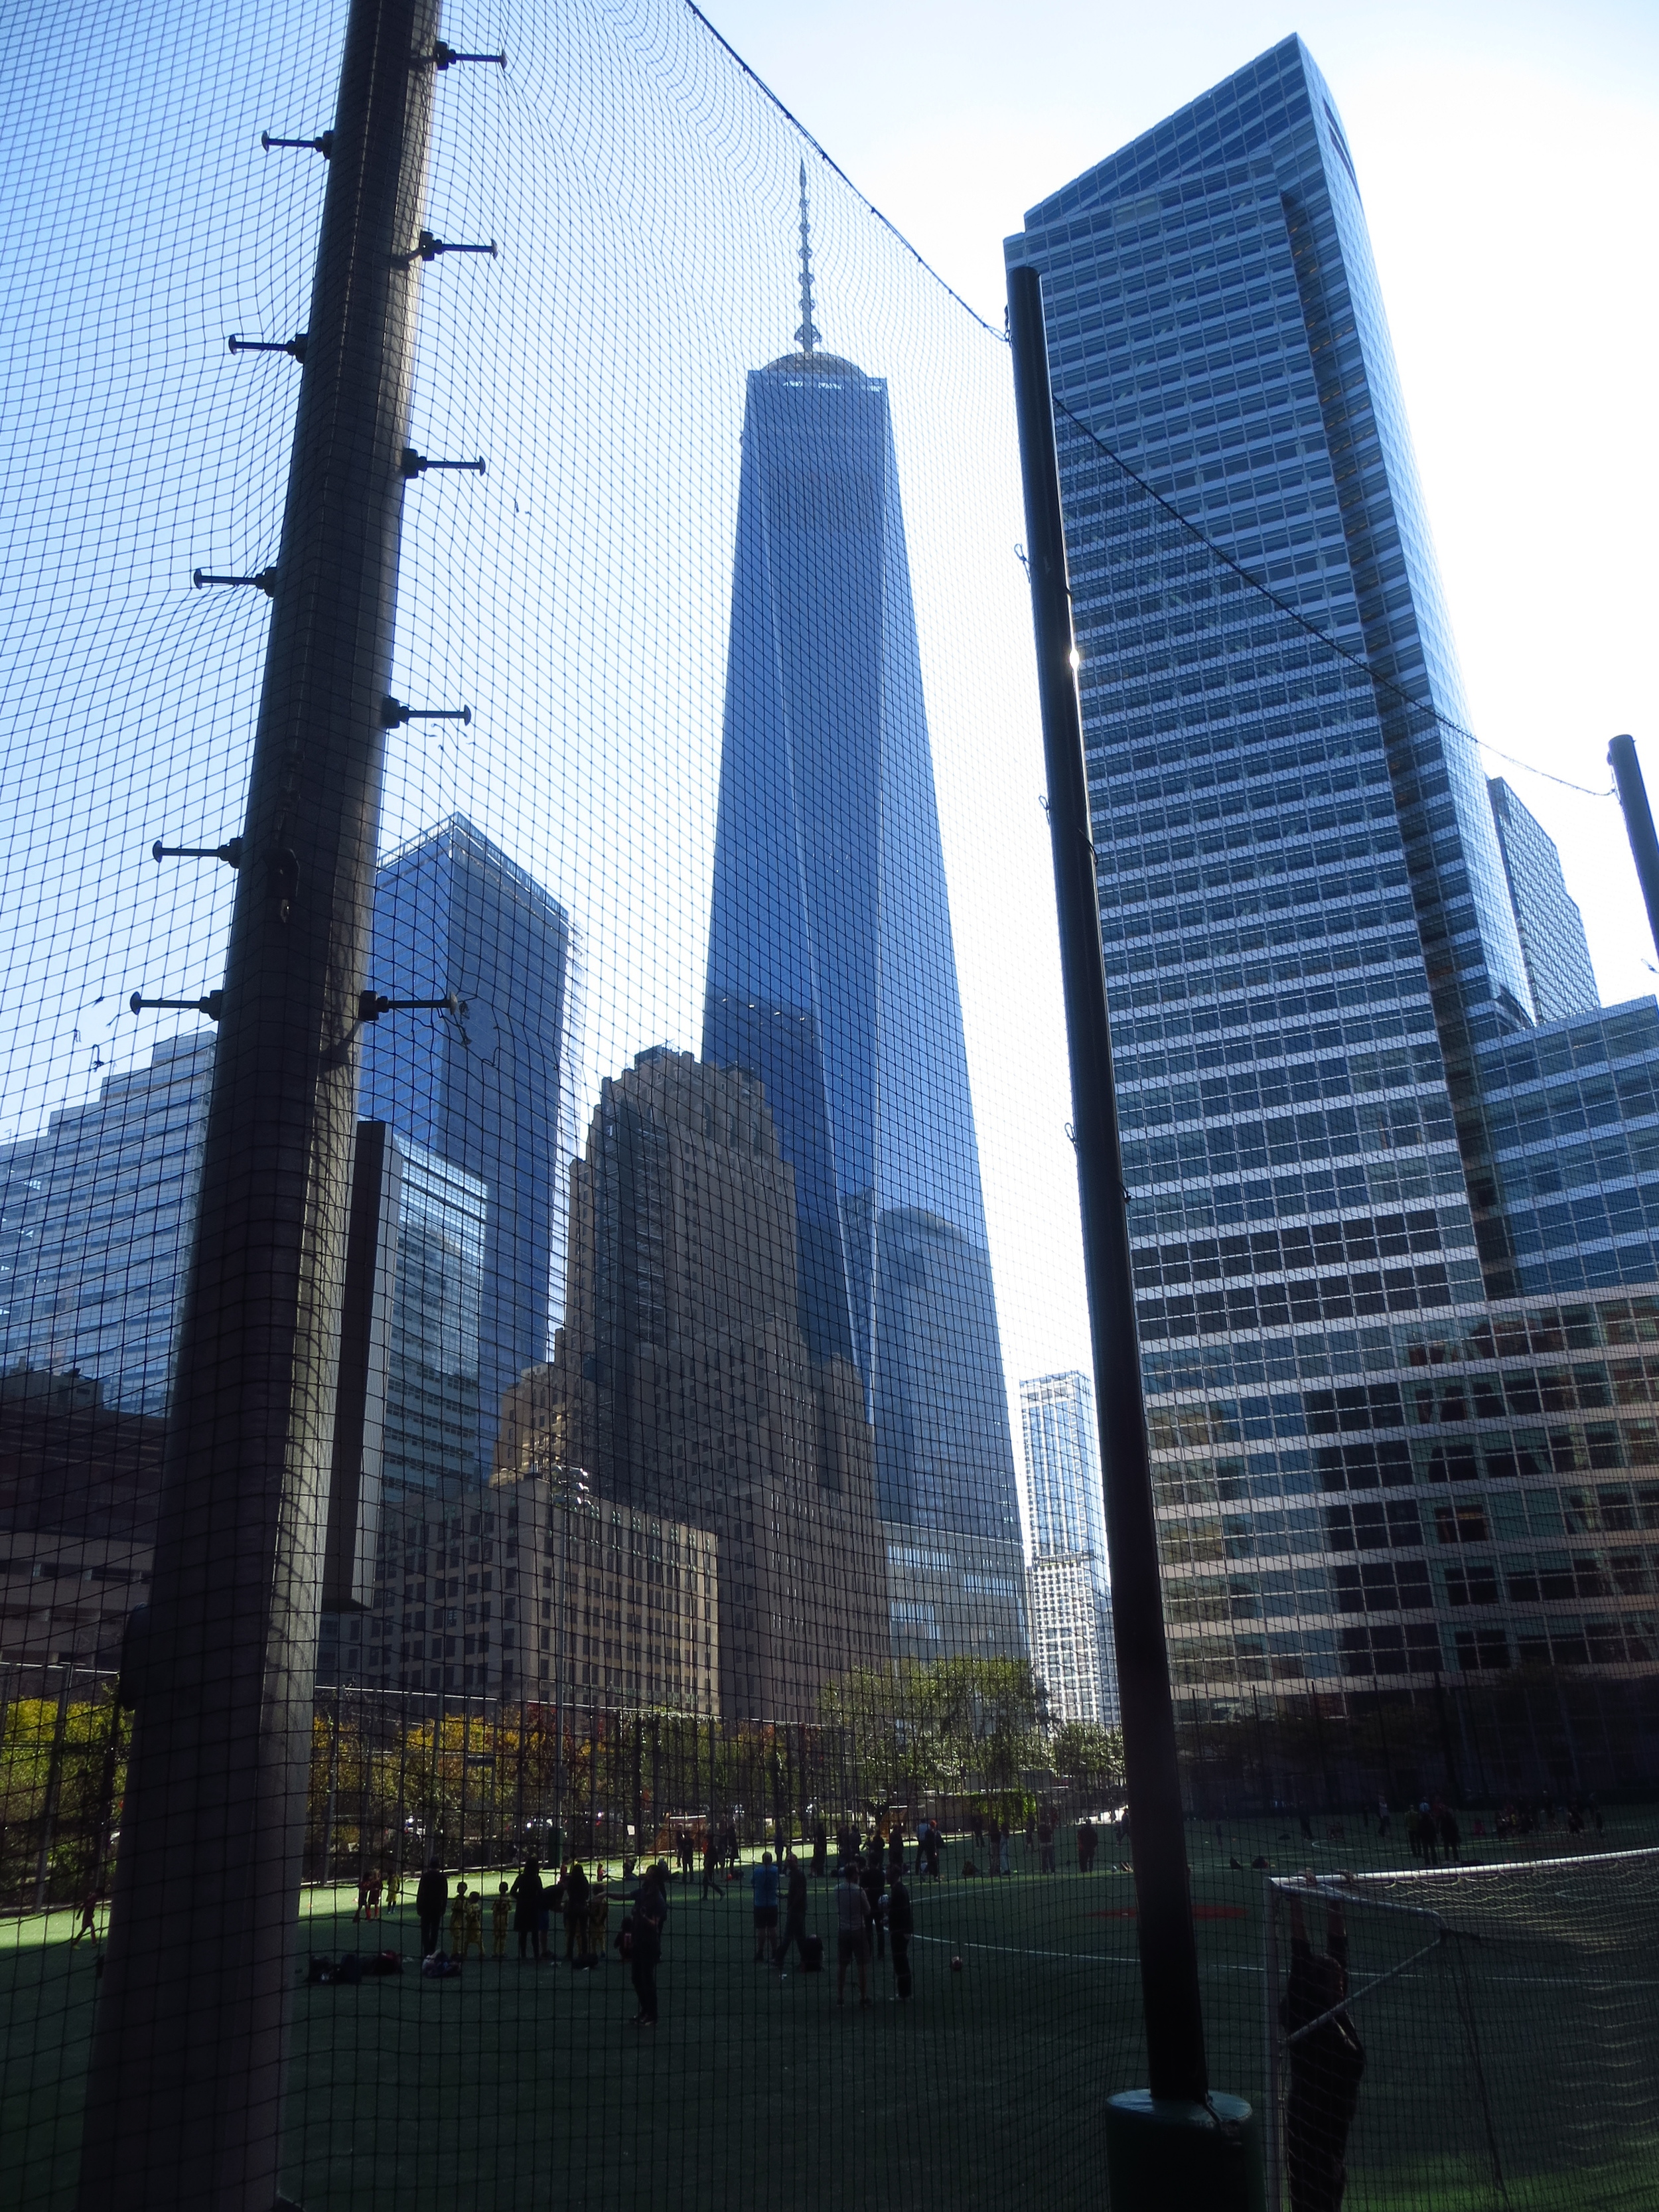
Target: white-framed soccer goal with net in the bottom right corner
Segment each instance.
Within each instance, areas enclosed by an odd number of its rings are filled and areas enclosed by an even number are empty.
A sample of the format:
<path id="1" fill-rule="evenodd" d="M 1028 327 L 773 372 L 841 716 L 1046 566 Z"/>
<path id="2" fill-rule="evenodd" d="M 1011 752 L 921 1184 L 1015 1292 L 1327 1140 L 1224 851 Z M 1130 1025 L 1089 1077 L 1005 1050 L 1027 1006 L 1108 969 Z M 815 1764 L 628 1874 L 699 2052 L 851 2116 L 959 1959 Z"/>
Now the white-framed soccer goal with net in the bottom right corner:
<path id="1" fill-rule="evenodd" d="M 1652 2212 L 1659 1851 L 1274 1876 L 1276 2212 Z"/>

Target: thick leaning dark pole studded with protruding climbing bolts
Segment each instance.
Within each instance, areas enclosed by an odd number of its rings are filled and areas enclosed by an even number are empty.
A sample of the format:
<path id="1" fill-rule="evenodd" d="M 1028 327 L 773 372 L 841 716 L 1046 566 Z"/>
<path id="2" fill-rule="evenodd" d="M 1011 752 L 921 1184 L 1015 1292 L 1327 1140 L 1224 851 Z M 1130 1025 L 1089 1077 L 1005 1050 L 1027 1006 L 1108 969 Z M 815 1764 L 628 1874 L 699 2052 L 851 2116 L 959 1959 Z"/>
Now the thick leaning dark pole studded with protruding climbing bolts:
<path id="1" fill-rule="evenodd" d="M 436 0 L 352 0 L 86 2088 L 84 2212 L 272 2212 Z"/>

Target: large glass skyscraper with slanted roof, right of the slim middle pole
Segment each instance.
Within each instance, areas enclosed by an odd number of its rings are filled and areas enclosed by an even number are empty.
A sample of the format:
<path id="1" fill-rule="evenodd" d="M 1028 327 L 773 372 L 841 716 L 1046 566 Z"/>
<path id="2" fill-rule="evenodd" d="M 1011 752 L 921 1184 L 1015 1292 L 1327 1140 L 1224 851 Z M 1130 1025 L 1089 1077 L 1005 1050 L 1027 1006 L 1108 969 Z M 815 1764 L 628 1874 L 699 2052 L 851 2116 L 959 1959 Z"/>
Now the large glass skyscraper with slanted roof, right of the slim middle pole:
<path id="1" fill-rule="evenodd" d="M 1009 259 L 1044 276 L 1177 1683 L 1639 1686 L 1659 1009 L 1562 1002 L 1582 933 L 1467 734 L 1307 49 Z"/>

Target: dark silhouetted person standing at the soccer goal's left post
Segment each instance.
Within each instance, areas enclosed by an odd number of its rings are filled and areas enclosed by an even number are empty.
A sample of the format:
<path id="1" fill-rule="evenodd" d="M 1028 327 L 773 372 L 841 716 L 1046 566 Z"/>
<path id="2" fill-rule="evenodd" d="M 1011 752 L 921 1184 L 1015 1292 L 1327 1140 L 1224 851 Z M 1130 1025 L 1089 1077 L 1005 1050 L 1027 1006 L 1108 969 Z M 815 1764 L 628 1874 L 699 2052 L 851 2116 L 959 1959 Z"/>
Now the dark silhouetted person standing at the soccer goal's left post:
<path id="1" fill-rule="evenodd" d="M 1303 1900 L 1290 1898 L 1290 1975 L 1279 2022 L 1290 2044 L 1285 2168 L 1292 2212 L 1340 2212 L 1347 2188 L 1347 2130 L 1360 2101 L 1365 2044 L 1338 2011 L 1347 1997 L 1347 1924 L 1332 1905 L 1325 1951 L 1314 1951 Z M 1325 2017 L 1325 2015 L 1332 2017 Z M 1314 2026 L 1318 2022 L 1318 2026 Z"/>

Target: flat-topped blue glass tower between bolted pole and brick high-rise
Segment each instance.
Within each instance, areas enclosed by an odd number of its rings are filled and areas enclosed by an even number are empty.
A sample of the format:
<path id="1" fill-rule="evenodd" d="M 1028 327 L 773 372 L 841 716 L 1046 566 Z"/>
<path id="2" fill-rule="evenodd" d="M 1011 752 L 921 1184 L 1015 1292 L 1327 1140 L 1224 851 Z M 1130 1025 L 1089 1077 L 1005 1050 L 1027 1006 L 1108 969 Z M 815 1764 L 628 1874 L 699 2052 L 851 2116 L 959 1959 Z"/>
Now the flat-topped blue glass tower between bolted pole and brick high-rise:
<path id="1" fill-rule="evenodd" d="M 363 1042 L 358 1113 L 476 1177 L 484 1190 L 478 1438 L 489 1478 L 507 1389 L 546 1358 L 555 1230 L 568 1150 L 573 931 L 564 907 L 453 816 L 383 863 L 369 982 L 460 1015 L 383 1015 Z"/>

